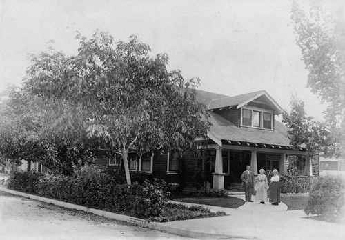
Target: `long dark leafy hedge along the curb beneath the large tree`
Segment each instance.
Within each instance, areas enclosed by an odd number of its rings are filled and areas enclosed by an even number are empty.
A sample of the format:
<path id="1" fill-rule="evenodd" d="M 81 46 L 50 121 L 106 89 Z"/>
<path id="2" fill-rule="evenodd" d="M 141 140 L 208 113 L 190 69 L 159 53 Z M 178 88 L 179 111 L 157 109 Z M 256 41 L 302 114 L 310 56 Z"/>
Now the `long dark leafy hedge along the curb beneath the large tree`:
<path id="1" fill-rule="evenodd" d="M 95 167 L 83 167 L 69 177 L 34 171 L 12 172 L 8 187 L 140 218 L 158 216 L 168 201 L 164 181 L 154 179 L 142 184 L 119 184 Z"/>

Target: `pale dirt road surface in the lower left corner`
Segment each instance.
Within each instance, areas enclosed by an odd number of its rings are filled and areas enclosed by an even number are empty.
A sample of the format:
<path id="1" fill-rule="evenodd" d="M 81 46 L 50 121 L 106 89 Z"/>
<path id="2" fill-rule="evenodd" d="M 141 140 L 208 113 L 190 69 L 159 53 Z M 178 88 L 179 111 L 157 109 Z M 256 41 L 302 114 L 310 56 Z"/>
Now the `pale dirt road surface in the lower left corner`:
<path id="1" fill-rule="evenodd" d="M 0 192 L 0 239 L 187 239 Z"/>

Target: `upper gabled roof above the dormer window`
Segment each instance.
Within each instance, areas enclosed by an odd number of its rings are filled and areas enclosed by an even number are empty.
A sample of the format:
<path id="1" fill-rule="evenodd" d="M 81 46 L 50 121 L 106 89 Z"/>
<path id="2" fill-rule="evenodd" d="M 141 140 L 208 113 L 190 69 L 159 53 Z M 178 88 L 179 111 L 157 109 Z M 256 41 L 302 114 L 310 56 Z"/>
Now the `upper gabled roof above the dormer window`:
<path id="1" fill-rule="evenodd" d="M 219 99 L 212 99 L 208 103 L 208 110 L 230 106 L 237 106 L 238 109 L 250 103 L 251 101 L 254 101 L 255 99 L 259 98 L 264 100 L 268 106 L 275 110 L 277 114 L 282 114 L 282 112 L 284 111 L 283 108 L 279 106 L 279 104 L 272 97 L 270 97 L 270 95 L 265 90 L 249 92 L 246 94 L 241 94 L 233 97 L 222 97 Z"/>

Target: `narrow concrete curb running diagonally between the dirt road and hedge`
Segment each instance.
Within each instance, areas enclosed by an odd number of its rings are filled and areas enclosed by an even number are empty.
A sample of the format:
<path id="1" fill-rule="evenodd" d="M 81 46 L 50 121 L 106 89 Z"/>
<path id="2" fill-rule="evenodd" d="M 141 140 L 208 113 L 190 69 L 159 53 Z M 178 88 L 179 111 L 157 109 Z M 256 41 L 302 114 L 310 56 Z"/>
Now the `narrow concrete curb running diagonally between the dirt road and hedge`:
<path id="1" fill-rule="evenodd" d="M 145 219 L 128 217 L 128 216 L 122 215 L 122 214 L 116 214 L 113 212 L 106 212 L 106 211 L 95 209 L 95 208 L 88 208 L 88 207 L 80 206 L 77 204 L 66 203 L 64 201 L 57 201 L 54 199 L 48 199 L 46 197 L 39 197 L 36 195 L 27 194 L 24 192 L 17 192 L 14 190 L 10 190 L 8 188 L 3 188 L 3 187 L 0 187 L 0 191 L 7 192 L 10 194 L 14 194 L 14 195 L 19 195 L 21 197 L 26 197 L 28 199 L 43 201 L 45 203 L 52 203 L 56 206 L 61 206 L 63 208 L 70 208 L 70 209 L 81 210 L 83 212 L 90 212 L 92 214 L 96 214 L 96 215 L 101 216 L 101 217 L 108 217 L 110 219 L 115 219 L 118 221 L 124 221 L 127 223 L 135 224 L 137 226 L 151 228 L 153 230 L 164 231 L 164 232 L 179 235 L 182 237 L 191 237 L 191 238 L 195 238 L 195 239 L 255 239 L 255 237 L 238 237 L 238 236 L 230 236 L 230 235 L 224 235 L 224 234 L 210 234 L 207 232 L 196 232 L 193 230 L 181 229 L 181 228 L 176 228 L 176 227 L 172 227 L 172 226 L 166 226 L 164 223 L 149 222 L 149 221 L 146 221 Z"/>

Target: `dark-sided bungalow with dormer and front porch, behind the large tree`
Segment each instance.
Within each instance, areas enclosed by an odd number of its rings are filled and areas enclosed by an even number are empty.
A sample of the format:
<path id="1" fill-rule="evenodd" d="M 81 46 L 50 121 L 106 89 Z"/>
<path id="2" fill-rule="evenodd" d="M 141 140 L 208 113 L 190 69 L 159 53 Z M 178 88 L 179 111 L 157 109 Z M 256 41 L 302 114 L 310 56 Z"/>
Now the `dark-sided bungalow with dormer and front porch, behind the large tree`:
<path id="1" fill-rule="evenodd" d="M 287 128 L 275 120 L 283 110 L 262 90 L 233 97 L 197 90 L 197 101 L 210 114 L 206 138 L 197 138 L 197 150 L 185 152 L 150 152 L 130 159 L 130 170 L 146 172 L 185 191 L 240 188 L 241 174 L 250 165 L 254 174 L 263 168 L 286 172 L 289 155 L 306 156 L 305 148 L 294 150 Z M 119 161 L 109 155 L 99 159 L 111 172 Z M 306 175 L 312 174 L 311 159 L 306 159 Z"/>

